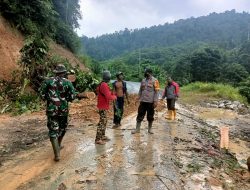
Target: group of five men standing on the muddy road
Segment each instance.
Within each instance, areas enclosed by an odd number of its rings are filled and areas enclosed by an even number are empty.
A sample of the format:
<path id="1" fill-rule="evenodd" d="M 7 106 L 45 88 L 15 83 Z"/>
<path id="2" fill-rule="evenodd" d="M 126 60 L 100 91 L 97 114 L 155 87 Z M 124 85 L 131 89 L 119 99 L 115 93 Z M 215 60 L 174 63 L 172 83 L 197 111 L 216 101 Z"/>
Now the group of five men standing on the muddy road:
<path id="1" fill-rule="evenodd" d="M 76 93 L 72 83 L 66 79 L 67 70 L 64 65 L 57 65 L 54 70 L 55 77 L 51 77 L 44 81 L 41 86 L 41 97 L 47 101 L 47 127 L 49 129 L 49 137 L 54 151 L 55 161 L 60 160 L 60 150 L 62 140 L 68 126 L 69 106 L 68 102 L 75 98 L 80 98 Z M 127 100 L 128 92 L 126 82 L 123 80 L 123 73 L 116 74 L 117 80 L 112 83 L 112 90 L 108 83 L 111 79 L 109 71 L 104 71 L 102 82 L 98 85 L 97 92 L 97 108 L 100 120 L 97 126 L 95 144 L 104 145 L 110 139 L 105 135 L 107 127 L 107 111 L 110 109 L 109 104 L 113 101 L 114 118 L 113 128 L 121 126 L 121 120 L 124 112 L 124 102 Z M 153 77 L 153 71 L 150 68 L 145 69 L 144 79 L 141 81 L 138 98 L 139 107 L 136 117 L 136 128 L 132 134 L 140 133 L 141 122 L 147 114 L 148 133 L 153 134 L 152 126 L 154 121 L 154 112 L 159 100 L 160 84 Z M 176 116 L 175 101 L 178 98 L 179 87 L 171 78 L 168 78 L 162 99 L 167 99 L 168 119 L 174 120 Z"/>

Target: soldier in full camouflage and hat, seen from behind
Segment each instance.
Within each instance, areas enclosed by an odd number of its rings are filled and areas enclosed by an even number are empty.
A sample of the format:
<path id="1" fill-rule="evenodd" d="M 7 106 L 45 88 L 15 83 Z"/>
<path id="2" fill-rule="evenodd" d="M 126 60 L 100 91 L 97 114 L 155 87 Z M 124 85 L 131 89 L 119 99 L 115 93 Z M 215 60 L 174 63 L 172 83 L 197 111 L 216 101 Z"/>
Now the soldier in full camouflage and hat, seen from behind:
<path id="1" fill-rule="evenodd" d="M 47 127 L 55 155 L 54 160 L 59 161 L 62 139 L 68 126 L 68 102 L 75 99 L 75 89 L 72 83 L 64 78 L 67 73 L 64 65 L 57 65 L 54 73 L 55 77 L 45 80 L 42 84 L 41 97 L 47 101 Z"/>

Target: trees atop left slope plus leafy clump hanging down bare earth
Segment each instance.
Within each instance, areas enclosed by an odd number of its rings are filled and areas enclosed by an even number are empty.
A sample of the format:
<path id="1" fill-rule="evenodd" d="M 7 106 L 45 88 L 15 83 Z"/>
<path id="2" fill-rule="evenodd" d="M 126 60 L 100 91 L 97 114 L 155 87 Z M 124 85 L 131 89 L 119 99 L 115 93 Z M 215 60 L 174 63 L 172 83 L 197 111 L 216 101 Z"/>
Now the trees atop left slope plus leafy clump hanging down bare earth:
<path id="1" fill-rule="evenodd" d="M 48 54 L 50 39 L 75 53 L 79 48 L 79 39 L 74 32 L 81 18 L 79 10 L 79 0 L 0 2 L 1 15 L 26 37 L 21 49 L 22 79 L 28 79 L 35 90 L 40 86 L 40 77 L 47 76 L 54 66 Z"/>

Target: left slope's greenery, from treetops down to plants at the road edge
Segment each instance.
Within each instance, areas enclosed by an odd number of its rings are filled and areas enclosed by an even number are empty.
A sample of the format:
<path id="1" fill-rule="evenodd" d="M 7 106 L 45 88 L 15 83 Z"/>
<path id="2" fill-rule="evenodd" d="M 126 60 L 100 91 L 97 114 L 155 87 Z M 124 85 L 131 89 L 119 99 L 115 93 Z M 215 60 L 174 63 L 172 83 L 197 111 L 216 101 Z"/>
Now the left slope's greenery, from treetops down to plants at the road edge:
<path id="1" fill-rule="evenodd" d="M 79 0 L 2 0 L 0 13 L 25 36 L 19 61 L 23 72 L 14 75 L 12 81 L 0 81 L 0 106 L 3 108 L 0 111 L 17 114 L 37 111 L 43 107 L 37 91 L 43 80 L 51 76 L 55 65 L 61 63 L 72 68 L 66 59 L 49 54 L 50 41 L 73 53 L 80 47 L 79 37 L 74 32 L 81 18 Z"/>

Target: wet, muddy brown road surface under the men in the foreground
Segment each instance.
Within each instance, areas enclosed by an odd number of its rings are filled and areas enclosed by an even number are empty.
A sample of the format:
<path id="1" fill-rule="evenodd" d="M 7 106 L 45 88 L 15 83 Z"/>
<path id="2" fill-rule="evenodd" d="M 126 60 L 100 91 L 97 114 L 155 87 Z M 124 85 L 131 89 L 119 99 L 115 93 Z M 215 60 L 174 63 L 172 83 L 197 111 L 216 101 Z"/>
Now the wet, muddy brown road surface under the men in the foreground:
<path id="1" fill-rule="evenodd" d="M 39 150 L 23 153 L 1 167 L 3 189 L 181 189 L 178 170 L 173 164 L 169 124 L 161 118 L 154 131 L 131 135 L 135 115 L 118 129 L 108 129 L 106 145 L 95 145 L 96 128 L 75 123 L 68 131 L 61 161 L 52 160 L 49 143 Z M 172 132 L 171 132 L 172 131 Z M 83 134 L 84 133 L 84 134 Z M 12 179 L 12 180 L 10 180 Z"/>

